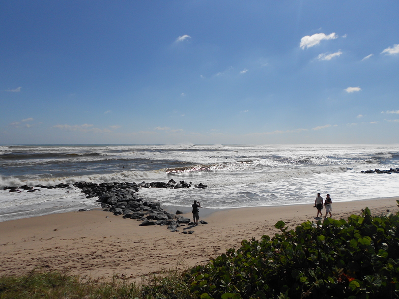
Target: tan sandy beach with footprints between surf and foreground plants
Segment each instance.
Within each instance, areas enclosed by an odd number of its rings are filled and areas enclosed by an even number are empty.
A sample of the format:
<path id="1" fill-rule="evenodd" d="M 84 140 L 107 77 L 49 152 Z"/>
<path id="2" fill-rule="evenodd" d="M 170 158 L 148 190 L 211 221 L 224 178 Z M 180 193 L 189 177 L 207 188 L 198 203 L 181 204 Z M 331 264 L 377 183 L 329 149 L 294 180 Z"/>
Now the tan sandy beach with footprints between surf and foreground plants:
<path id="1" fill-rule="evenodd" d="M 333 218 L 360 215 L 366 206 L 373 215 L 396 213 L 397 199 L 335 202 Z M 313 202 L 216 212 L 201 209 L 201 220 L 208 224 L 181 226 L 179 232 L 165 226 L 138 226 L 138 221 L 100 209 L 0 222 L 0 273 L 22 275 L 41 268 L 95 279 L 117 274 L 140 282 L 162 270 L 204 264 L 228 248 L 238 248 L 243 239 L 272 236 L 278 232 L 274 224 L 279 220 L 294 228 L 319 220 L 316 214 Z M 191 218 L 190 213 L 183 216 Z M 194 232 L 181 233 L 184 230 Z"/>

